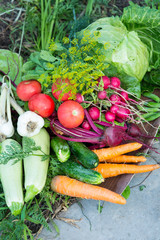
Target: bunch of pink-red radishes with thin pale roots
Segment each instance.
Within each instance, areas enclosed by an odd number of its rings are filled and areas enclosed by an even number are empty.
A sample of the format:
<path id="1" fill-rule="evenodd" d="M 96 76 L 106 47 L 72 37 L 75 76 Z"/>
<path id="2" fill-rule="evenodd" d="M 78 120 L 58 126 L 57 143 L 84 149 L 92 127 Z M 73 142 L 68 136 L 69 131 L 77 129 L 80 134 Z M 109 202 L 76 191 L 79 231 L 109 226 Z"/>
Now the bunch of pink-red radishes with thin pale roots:
<path id="1" fill-rule="evenodd" d="M 102 114 L 104 114 L 105 121 L 114 124 L 117 122 L 125 122 L 126 120 L 134 119 L 134 114 L 137 110 L 130 104 L 135 102 L 135 100 L 129 98 L 128 92 L 121 88 L 121 81 L 117 77 L 107 77 L 103 76 L 98 79 L 97 87 L 102 83 L 102 90 L 95 89 L 97 93 L 97 102 L 91 103 L 88 108 L 88 113 L 93 121 L 100 121 Z M 80 94 L 77 94 L 77 99 L 79 103 L 86 102 Z M 103 109 L 103 103 L 108 102 L 107 109 Z M 102 104 L 101 104 L 102 103 Z M 90 130 L 91 126 L 89 122 L 85 119 L 82 123 L 82 127 L 86 130 Z"/>

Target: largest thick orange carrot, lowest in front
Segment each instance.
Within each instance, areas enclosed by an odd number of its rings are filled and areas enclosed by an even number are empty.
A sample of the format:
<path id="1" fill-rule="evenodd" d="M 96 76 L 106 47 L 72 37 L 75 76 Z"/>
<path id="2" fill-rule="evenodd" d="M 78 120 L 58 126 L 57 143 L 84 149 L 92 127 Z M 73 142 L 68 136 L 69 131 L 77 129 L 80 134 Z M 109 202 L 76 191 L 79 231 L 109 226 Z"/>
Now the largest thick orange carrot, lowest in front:
<path id="1" fill-rule="evenodd" d="M 80 182 L 67 176 L 56 176 L 52 179 L 51 189 L 54 192 L 71 197 L 103 200 L 112 203 L 125 204 L 126 200 L 118 193 L 108 189 Z"/>

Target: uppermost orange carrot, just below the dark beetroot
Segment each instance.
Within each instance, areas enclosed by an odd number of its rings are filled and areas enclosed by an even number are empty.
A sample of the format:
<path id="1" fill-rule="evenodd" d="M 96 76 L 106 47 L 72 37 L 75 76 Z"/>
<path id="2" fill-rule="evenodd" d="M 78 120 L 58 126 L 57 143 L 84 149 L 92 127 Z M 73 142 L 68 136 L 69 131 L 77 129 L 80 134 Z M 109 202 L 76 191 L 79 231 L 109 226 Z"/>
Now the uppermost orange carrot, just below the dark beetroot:
<path id="1" fill-rule="evenodd" d="M 132 143 L 126 143 L 123 145 L 118 145 L 116 147 L 94 149 L 92 151 L 97 154 L 99 161 L 102 162 L 110 158 L 114 158 L 122 154 L 138 150 L 141 147 L 142 147 L 142 144 L 137 142 L 132 142 Z"/>

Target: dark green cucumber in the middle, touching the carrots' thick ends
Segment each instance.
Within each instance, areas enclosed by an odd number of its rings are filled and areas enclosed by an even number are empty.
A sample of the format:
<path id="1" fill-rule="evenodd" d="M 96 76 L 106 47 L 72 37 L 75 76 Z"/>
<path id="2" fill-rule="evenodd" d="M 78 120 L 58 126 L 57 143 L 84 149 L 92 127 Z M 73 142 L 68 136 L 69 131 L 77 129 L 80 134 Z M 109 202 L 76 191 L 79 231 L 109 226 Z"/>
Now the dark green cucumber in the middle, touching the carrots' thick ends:
<path id="1" fill-rule="evenodd" d="M 81 142 L 68 141 L 71 152 L 86 168 L 95 168 L 99 164 L 98 156 Z"/>

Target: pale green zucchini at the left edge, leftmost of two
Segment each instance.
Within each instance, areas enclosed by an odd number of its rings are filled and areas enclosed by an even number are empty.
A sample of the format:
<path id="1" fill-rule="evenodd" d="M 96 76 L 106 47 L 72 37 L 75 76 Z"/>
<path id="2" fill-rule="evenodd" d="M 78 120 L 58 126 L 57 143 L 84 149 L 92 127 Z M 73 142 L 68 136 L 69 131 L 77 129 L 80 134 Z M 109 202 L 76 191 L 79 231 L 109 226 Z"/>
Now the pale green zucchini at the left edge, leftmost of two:
<path id="1" fill-rule="evenodd" d="M 6 139 L 1 143 L 0 154 L 4 154 L 16 145 L 16 148 L 21 149 L 20 144 L 13 139 Z M 23 201 L 23 188 L 22 188 L 22 159 L 17 161 L 8 161 L 6 164 L 0 164 L 0 179 L 3 186 L 6 204 L 11 210 L 13 215 L 21 213 Z"/>

